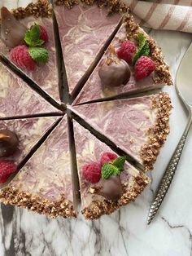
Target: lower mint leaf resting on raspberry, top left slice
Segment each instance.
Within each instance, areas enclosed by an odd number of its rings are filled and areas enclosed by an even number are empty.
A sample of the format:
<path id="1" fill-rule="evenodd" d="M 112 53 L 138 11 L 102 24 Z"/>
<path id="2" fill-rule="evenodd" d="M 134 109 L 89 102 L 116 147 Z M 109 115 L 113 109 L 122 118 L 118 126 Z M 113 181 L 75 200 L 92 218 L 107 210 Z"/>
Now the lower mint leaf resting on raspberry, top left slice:
<path id="1" fill-rule="evenodd" d="M 49 61 L 49 52 L 45 48 L 29 47 L 28 52 L 35 62 L 46 63 Z"/>

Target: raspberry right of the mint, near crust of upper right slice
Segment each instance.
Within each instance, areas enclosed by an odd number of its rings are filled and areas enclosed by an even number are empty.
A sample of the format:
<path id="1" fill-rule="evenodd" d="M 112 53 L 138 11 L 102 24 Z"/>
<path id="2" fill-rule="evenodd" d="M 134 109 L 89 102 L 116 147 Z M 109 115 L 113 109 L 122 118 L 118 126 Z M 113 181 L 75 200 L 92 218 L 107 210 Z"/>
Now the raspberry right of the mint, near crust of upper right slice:
<path id="1" fill-rule="evenodd" d="M 137 80 L 149 76 L 155 70 L 155 63 L 149 57 L 140 57 L 135 66 L 135 78 Z"/>

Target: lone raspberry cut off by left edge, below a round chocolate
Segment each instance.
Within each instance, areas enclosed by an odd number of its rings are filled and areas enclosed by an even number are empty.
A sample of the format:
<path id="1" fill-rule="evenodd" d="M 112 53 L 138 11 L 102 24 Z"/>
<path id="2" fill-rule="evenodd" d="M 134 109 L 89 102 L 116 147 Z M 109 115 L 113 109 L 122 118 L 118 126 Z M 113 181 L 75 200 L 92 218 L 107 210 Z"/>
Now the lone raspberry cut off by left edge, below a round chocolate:
<path id="1" fill-rule="evenodd" d="M 0 183 L 7 182 L 7 179 L 16 170 L 16 166 L 12 161 L 0 160 Z"/>

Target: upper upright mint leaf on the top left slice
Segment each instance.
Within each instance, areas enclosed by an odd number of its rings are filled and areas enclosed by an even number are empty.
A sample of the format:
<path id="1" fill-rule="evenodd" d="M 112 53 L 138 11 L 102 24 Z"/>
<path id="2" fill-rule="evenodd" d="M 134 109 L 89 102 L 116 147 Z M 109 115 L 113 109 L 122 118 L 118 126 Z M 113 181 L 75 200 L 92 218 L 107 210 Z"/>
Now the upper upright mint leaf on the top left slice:
<path id="1" fill-rule="evenodd" d="M 44 40 L 40 39 L 41 30 L 39 25 L 34 24 L 31 29 L 25 33 L 24 41 L 28 46 L 41 46 L 44 43 Z"/>

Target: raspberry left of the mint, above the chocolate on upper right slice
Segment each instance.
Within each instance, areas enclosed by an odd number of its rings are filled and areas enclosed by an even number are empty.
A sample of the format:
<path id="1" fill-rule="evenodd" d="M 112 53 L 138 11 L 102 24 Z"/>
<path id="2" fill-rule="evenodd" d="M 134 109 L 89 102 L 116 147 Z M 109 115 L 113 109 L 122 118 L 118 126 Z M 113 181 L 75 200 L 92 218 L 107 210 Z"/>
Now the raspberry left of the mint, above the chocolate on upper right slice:
<path id="1" fill-rule="evenodd" d="M 133 59 L 133 55 L 136 53 L 137 48 L 133 44 L 133 42 L 129 40 L 125 40 L 120 48 L 117 50 L 117 55 L 120 59 L 125 60 L 127 63 L 131 63 Z"/>

